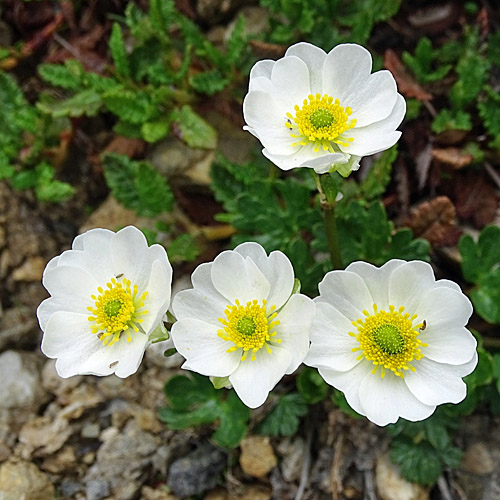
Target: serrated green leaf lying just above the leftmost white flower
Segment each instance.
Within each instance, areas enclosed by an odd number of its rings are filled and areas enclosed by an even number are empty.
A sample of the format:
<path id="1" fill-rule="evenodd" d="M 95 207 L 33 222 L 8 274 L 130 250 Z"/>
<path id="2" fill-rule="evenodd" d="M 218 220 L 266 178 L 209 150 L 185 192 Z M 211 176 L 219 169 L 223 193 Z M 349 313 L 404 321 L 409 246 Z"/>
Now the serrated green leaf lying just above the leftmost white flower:
<path id="1" fill-rule="evenodd" d="M 106 182 L 125 207 L 146 217 L 171 210 L 172 192 L 153 165 L 116 153 L 105 154 L 102 161 Z"/>

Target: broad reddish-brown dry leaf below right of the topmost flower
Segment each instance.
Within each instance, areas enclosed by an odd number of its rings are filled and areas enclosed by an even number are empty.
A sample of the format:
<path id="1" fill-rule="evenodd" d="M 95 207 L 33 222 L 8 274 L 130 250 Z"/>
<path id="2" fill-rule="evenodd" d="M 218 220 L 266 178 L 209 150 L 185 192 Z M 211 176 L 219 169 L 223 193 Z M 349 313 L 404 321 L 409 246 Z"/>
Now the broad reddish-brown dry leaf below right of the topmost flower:
<path id="1" fill-rule="evenodd" d="M 425 238 L 432 245 L 450 244 L 451 236 L 458 235 L 455 226 L 455 206 L 447 196 L 425 201 L 412 210 L 406 225 L 416 237 Z M 456 243 L 453 242 L 451 244 Z"/>

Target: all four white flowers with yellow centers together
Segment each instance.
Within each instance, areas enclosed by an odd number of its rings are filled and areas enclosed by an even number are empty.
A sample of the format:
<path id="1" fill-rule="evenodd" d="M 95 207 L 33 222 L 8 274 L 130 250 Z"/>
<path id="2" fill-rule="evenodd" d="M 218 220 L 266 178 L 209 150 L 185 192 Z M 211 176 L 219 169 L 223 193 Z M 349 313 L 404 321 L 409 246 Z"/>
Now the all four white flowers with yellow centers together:
<path id="1" fill-rule="evenodd" d="M 370 72 L 360 46 L 326 54 L 294 45 L 283 59 L 253 68 L 248 129 L 283 169 L 348 174 L 400 135 L 404 100 L 390 73 Z M 311 300 L 297 293 L 282 252 L 244 243 L 198 266 L 193 288 L 172 303 L 171 282 L 165 249 L 148 246 L 135 227 L 78 236 L 44 272 L 51 296 L 38 308 L 42 351 L 57 359 L 62 377 L 127 377 L 170 309 L 183 368 L 226 378 L 249 407 L 305 363 L 378 425 L 422 420 L 441 403 L 463 400 L 462 378 L 477 364 L 465 328 L 469 300 L 455 283 L 436 281 L 425 262 L 355 262 L 328 273 Z"/>

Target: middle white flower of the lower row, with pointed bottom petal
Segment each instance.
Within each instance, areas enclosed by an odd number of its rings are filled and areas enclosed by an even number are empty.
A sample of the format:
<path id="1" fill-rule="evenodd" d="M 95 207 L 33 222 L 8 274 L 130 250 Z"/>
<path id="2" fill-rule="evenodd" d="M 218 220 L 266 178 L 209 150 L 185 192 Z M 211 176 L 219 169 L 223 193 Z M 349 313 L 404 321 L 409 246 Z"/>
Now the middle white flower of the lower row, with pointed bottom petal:
<path id="1" fill-rule="evenodd" d="M 309 348 L 315 306 L 291 295 L 293 268 L 281 252 L 269 256 L 257 243 L 219 254 L 193 273 L 193 289 L 179 292 L 172 308 L 172 339 L 183 368 L 229 377 L 240 399 L 260 406 Z"/>

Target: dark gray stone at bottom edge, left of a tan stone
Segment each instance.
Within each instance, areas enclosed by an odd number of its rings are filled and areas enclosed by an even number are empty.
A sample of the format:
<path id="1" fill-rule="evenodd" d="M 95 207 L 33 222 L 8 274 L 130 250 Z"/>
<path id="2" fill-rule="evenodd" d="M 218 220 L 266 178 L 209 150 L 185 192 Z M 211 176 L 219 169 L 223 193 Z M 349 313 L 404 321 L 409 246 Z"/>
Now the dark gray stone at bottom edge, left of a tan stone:
<path id="1" fill-rule="evenodd" d="M 212 489 L 226 466 L 226 454 L 209 443 L 170 466 L 167 484 L 178 497 L 190 497 Z"/>

